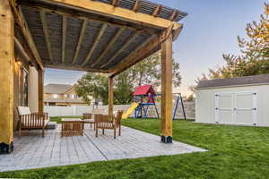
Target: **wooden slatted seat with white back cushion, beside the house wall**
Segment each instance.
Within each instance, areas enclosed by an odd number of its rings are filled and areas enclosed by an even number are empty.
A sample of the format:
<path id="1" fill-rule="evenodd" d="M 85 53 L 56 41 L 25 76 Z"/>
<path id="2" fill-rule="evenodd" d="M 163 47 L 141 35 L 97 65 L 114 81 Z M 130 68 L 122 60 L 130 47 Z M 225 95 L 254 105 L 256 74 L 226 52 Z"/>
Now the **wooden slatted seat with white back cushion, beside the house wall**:
<path id="1" fill-rule="evenodd" d="M 22 130 L 42 130 L 42 137 L 48 126 L 48 113 L 30 113 L 30 107 L 18 107 L 19 113 L 19 136 Z"/>

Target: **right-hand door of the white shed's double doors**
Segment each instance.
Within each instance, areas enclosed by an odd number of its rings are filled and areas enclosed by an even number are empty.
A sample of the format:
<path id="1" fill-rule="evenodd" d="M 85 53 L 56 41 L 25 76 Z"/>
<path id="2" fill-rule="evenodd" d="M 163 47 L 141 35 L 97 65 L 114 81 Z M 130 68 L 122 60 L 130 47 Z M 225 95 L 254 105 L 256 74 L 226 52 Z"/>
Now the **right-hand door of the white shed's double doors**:
<path id="1" fill-rule="evenodd" d="M 235 124 L 256 124 L 256 93 L 242 92 L 235 94 Z"/>

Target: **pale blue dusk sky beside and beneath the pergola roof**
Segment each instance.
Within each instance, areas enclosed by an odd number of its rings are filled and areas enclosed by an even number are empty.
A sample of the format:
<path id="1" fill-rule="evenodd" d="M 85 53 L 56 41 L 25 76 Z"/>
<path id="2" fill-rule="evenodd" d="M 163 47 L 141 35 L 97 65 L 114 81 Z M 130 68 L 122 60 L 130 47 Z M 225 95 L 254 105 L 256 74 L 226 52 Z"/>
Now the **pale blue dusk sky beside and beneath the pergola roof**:
<path id="1" fill-rule="evenodd" d="M 187 94 L 188 86 L 208 68 L 223 64 L 222 54 L 239 55 L 237 36 L 246 37 L 246 25 L 264 12 L 265 0 L 152 0 L 188 13 L 173 44 L 180 64 L 182 85 L 175 92 Z M 45 84 L 74 84 L 84 72 L 46 69 Z"/>

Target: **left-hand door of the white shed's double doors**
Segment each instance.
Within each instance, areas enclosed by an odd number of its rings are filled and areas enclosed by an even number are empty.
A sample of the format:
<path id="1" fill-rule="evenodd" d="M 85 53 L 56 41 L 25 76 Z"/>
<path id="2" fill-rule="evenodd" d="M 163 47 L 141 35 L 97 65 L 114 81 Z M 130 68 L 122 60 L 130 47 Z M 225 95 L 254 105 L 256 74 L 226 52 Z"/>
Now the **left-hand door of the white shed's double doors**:
<path id="1" fill-rule="evenodd" d="M 232 93 L 216 94 L 215 121 L 220 124 L 233 124 Z"/>

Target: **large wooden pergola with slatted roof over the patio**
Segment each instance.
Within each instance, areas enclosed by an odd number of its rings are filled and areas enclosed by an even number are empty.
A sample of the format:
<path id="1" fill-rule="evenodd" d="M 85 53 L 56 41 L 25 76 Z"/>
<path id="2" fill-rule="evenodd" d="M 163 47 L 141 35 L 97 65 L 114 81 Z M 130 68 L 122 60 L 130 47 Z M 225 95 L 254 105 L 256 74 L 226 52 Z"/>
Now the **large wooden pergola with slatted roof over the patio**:
<path id="1" fill-rule="evenodd" d="M 1 0 L 0 144 L 13 146 L 14 51 L 39 72 L 43 113 L 44 68 L 108 73 L 113 78 L 161 49 L 161 141 L 172 142 L 172 41 L 187 13 L 144 0 Z"/>

